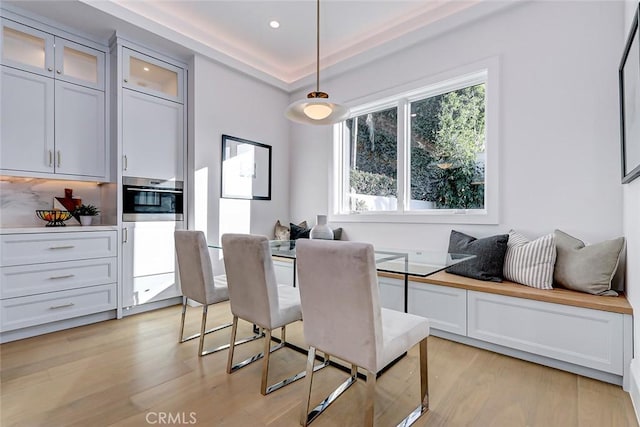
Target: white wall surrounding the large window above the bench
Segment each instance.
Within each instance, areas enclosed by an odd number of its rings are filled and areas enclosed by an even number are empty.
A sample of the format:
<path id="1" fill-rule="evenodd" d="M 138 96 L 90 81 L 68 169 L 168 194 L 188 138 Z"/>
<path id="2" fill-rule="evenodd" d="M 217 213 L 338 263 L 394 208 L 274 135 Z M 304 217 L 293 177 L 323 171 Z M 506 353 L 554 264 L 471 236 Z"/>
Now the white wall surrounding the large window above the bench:
<path id="1" fill-rule="evenodd" d="M 616 70 L 623 9 L 620 2 L 526 3 L 323 79 L 321 89 L 356 105 L 485 58 L 497 55 L 501 64 L 497 226 L 333 225 L 350 240 L 440 250 L 452 228 L 477 236 L 514 228 L 532 237 L 560 228 L 590 242 L 621 235 Z M 328 209 L 331 129 L 294 125 L 291 152 L 291 216 L 313 221 Z"/>

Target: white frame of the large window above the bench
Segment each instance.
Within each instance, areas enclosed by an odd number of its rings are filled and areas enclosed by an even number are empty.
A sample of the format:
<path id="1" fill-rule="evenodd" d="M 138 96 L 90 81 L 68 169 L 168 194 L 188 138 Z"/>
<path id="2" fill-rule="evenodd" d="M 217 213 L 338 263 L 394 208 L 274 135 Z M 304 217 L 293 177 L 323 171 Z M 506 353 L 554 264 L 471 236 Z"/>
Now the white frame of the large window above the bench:
<path id="1" fill-rule="evenodd" d="M 431 96 L 474 84 L 485 85 L 485 207 L 484 209 L 432 209 L 408 210 L 410 202 L 410 103 Z M 349 118 L 381 111 L 398 109 L 398 208 L 396 211 L 340 212 L 348 202 L 348 145 L 343 144 L 343 123 L 333 126 L 333 162 L 329 197 L 329 219 L 336 222 L 380 223 L 448 223 L 448 224 L 498 224 L 499 223 L 499 59 L 483 61 L 450 70 L 418 82 L 391 88 L 377 95 L 351 102 Z"/>

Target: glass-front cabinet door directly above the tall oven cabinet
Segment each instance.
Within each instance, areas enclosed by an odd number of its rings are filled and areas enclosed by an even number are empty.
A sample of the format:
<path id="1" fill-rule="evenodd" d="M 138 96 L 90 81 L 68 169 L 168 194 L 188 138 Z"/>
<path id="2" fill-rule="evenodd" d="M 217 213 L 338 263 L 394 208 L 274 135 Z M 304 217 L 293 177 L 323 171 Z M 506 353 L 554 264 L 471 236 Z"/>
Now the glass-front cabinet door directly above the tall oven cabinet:
<path id="1" fill-rule="evenodd" d="M 182 103 L 184 70 L 131 49 L 123 49 L 122 86 Z"/>

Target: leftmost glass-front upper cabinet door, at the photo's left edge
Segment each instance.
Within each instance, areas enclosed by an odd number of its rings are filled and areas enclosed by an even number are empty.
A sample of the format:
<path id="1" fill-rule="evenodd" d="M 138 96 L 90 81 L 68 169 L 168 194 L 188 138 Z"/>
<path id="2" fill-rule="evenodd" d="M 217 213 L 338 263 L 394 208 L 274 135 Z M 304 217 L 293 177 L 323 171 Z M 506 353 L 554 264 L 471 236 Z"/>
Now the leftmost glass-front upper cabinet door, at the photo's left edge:
<path id="1" fill-rule="evenodd" d="M 53 77 L 53 35 L 3 18 L 0 46 L 3 65 Z"/>

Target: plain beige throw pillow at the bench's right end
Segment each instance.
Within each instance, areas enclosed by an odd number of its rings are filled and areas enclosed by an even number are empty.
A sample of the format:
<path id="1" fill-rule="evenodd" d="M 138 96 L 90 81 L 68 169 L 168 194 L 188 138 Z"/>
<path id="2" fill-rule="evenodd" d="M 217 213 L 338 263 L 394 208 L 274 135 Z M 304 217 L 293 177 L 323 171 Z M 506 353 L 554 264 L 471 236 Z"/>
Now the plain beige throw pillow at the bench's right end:
<path id="1" fill-rule="evenodd" d="M 567 289 L 595 295 L 618 295 L 611 281 L 618 269 L 624 237 L 586 246 L 560 230 L 554 232 L 556 259 L 553 280 Z"/>

